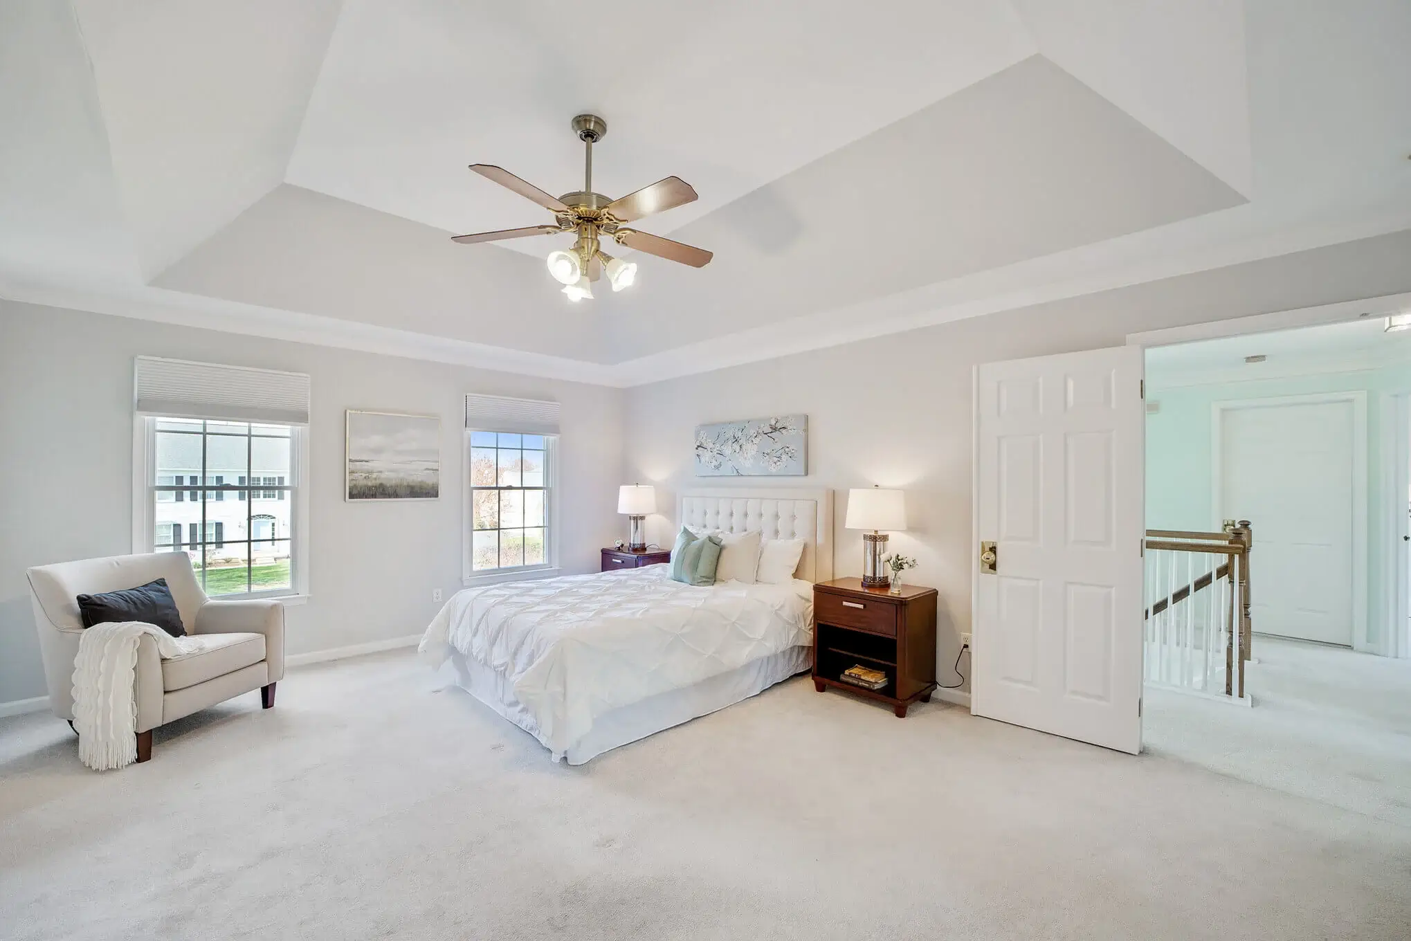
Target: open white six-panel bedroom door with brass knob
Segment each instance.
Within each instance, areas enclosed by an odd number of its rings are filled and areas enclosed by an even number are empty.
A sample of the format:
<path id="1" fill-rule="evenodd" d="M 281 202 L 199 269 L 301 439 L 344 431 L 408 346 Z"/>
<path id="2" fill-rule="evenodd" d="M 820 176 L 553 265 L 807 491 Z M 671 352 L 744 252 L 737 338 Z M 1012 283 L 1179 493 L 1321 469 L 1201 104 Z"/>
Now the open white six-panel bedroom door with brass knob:
<path id="1" fill-rule="evenodd" d="M 971 710 L 1141 751 L 1140 347 L 975 370 Z M 979 542 L 996 546 L 981 571 Z"/>

